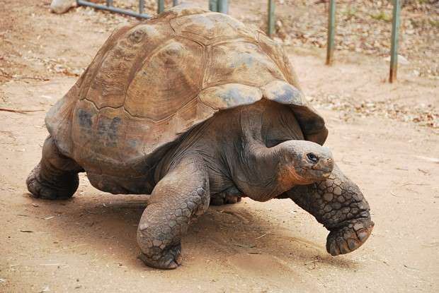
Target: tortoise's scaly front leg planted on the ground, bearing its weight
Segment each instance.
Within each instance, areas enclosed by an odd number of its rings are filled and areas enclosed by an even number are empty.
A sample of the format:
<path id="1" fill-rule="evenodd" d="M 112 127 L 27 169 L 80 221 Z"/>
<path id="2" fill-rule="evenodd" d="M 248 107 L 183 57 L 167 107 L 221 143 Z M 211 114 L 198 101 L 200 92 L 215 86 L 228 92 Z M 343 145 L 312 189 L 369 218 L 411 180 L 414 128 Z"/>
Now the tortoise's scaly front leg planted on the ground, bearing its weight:
<path id="1" fill-rule="evenodd" d="M 153 268 L 181 264 L 181 238 L 209 207 L 209 177 L 201 157 L 185 157 L 152 191 L 137 229 L 141 259 Z"/>

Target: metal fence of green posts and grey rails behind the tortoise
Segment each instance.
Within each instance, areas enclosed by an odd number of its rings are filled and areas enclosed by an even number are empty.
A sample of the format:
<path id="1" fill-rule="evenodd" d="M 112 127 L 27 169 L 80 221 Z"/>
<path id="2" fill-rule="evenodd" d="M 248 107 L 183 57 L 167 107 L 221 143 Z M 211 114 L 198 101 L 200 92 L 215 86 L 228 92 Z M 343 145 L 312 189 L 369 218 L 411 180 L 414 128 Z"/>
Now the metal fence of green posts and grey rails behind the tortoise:
<path id="1" fill-rule="evenodd" d="M 178 0 L 173 0 L 173 6 L 178 5 Z M 389 82 L 393 83 L 397 80 L 398 69 L 398 40 L 399 40 L 399 15 L 401 12 L 401 0 L 392 0 L 393 2 L 393 15 L 392 15 L 392 38 L 390 49 L 390 70 L 389 70 Z M 111 11 L 115 13 L 122 13 L 127 16 L 135 16 L 137 18 L 151 18 L 147 13 L 144 13 L 144 0 L 139 0 L 139 12 L 122 9 L 113 6 L 113 0 L 106 0 L 106 5 L 95 4 L 86 0 L 76 0 L 76 3 L 80 6 L 89 6 L 96 9 Z M 157 13 L 164 11 L 164 0 L 157 0 Z M 210 11 L 228 13 L 229 3 L 228 0 L 209 0 Z M 267 35 L 273 36 L 275 32 L 275 0 L 268 0 L 267 9 Z M 328 17 L 328 40 L 326 45 L 326 64 L 331 65 L 333 63 L 333 51 L 335 48 L 334 40 L 336 37 L 336 0 L 329 1 L 329 17 Z"/>

